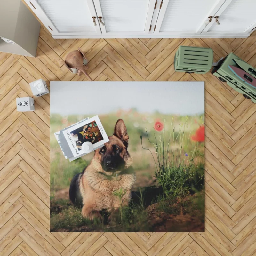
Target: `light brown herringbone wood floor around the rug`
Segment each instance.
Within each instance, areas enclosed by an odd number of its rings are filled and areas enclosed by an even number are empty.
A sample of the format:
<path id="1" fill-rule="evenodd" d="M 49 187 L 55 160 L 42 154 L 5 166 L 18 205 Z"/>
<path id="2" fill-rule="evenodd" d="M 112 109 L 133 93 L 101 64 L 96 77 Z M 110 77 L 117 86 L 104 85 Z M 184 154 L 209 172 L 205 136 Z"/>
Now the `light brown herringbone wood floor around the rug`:
<path id="1" fill-rule="evenodd" d="M 210 73 L 175 73 L 179 45 L 212 47 L 256 65 L 247 39 L 57 39 L 41 28 L 36 58 L 0 54 L 1 255 L 256 255 L 256 104 Z M 29 82 L 87 80 L 62 64 L 81 47 L 95 81 L 205 82 L 204 233 L 50 233 L 49 94 L 17 112 Z M 49 83 L 48 83 L 49 84 Z"/>

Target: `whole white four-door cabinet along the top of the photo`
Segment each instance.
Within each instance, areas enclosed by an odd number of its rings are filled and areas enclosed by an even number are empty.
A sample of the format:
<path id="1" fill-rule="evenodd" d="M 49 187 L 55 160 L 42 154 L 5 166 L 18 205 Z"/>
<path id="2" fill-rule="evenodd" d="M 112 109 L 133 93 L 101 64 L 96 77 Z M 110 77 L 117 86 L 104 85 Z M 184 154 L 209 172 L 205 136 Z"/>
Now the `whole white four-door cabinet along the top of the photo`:
<path id="1" fill-rule="evenodd" d="M 247 37 L 256 29 L 256 0 L 25 2 L 54 38 Z"/>

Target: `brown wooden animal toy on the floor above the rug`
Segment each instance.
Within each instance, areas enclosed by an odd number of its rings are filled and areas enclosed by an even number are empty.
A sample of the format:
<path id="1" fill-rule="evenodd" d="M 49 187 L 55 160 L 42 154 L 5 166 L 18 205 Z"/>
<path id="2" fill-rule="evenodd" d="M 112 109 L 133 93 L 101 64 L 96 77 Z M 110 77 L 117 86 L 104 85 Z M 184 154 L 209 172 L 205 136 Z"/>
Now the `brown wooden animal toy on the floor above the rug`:
<path id="1" fill-rule="evenodd" d="M 77 73 L 78 76 L 81 76 L 82 73 L 84 73 L 86 76 L 88 76 L 90 81 L 92 81 L 92 78 L 86 72 L 88 69 L 88 66 L 86 65 L 87 59 L 80 48 L 78 48 L 78 50 L 69 52 L 64 64 L 70 72 Z"/>

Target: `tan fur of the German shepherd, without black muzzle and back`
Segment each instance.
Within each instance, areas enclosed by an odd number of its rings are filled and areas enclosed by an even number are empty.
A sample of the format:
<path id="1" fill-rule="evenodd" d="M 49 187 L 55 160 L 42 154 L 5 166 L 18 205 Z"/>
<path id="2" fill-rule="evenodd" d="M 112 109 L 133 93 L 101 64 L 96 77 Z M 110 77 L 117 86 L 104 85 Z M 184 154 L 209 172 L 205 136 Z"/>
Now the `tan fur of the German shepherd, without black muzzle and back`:
<path id="1" fill-rule="evenodd" d="M 132 158 L 127 151 L 129 136 L 122 119 L 116 122 L 113 136 L 109 137 L 109 142 L 105 144 L 104 154 L 111 155 L 115 145 L 120 148 L 119 156 L 124 161 L 123 169 L 116 170 L 113 177 L 109 179 L 110 173 L 102 167 L 102 148 L 95 150 L 91 163 L 87 166 L 80 177 L 79 188 L 83 198 L 82 215 L 86 218 L 101 218 L 99 213 L 102 209 L 112 212 L 111 216 L 120 207 L 119 198 L 113 192 L 122 188 L 126 190 L 123 196 L 124 205 L 128 205 L 131 199 L 131 188 L 135 183 L 135 174 L 126 172 L 132 164 Z M 111 172 L 112 173 L 112 172 Z"/>

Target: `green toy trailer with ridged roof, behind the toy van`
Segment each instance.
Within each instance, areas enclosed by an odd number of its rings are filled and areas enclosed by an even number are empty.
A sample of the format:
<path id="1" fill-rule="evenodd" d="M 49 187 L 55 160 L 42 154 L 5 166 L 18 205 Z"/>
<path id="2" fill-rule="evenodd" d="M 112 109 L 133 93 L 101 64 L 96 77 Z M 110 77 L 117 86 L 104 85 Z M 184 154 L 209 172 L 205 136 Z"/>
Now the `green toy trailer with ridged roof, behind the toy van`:
<path id="1" fill-rule="evenodd" d="M 180 46 L 174 56 L 175 71 L 205 74 L 212 68 L 211 48 Z"/>

